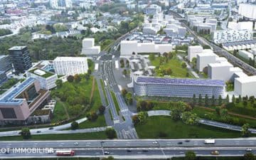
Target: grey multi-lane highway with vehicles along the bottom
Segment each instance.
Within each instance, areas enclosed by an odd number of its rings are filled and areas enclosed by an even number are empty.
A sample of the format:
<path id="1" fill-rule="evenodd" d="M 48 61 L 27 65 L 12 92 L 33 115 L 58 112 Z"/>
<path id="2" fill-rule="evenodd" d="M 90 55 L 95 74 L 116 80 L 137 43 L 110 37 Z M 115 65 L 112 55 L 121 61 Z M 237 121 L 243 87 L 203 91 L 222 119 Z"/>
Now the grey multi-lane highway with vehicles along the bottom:
<path id="1" fill-rule="evenodd" d="M 55 153 L 14 153 L 14 148 L 53 148 L 53 150 L 72 149 L 75 156 L 102 157 L 114 156 L 117 159 L 166 159 L 184 156 L 186 151 L 194 151 L 198 156 L 242 156 L 247 151 L 256 154 L 256 139 L 215 139 L 215 144 L 205 144 L 205 139 L 127 139 L 90 141 L 28 141 L 1 142 L 0 148 L 9 148 L 9 154 L 1 153 L 1 158 L 54 157 Z M 76 144 L 77 143 L 77 144 Z"/>

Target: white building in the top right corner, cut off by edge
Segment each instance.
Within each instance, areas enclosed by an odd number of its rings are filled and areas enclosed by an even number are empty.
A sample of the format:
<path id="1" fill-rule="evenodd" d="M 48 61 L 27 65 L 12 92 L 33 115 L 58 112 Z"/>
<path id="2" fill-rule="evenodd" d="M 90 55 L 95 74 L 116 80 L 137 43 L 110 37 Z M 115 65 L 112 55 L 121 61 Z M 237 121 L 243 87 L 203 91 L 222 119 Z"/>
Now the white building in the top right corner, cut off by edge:
<path id="1" fill-rule="evenodd" d="M 238 14 L 247 18 L 256 18 L 256 5 L 255 4 L 239 4 Z"/>

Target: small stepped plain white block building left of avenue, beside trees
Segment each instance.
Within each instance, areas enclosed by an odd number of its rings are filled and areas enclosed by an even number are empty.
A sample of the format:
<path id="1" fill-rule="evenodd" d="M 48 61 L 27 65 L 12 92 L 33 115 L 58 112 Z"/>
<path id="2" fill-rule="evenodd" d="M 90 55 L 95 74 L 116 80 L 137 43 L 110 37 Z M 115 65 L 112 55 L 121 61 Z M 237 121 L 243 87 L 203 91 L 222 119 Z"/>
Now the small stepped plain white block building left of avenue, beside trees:
<path id="1" fill-rule="evenodd" d="M 82 40 L 82 55 L 95 55 L 100 53 L 100 46 L 95 46 L 94 38 L 84 38 Z"/>

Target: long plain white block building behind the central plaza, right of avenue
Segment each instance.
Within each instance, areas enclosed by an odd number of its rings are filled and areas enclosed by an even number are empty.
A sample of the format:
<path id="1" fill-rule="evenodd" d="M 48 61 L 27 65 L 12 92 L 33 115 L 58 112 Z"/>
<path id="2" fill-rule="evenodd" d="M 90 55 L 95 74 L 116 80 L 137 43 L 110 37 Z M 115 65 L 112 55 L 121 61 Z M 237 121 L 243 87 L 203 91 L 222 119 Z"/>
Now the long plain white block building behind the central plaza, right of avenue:
<path id="1" fill-rule="evenodd" d="M 168 53 L 172 51 L 171 44 L 138 43 L 137 41 L 121 41 L 121 55 L 132 55 L 132 53 Z"/>

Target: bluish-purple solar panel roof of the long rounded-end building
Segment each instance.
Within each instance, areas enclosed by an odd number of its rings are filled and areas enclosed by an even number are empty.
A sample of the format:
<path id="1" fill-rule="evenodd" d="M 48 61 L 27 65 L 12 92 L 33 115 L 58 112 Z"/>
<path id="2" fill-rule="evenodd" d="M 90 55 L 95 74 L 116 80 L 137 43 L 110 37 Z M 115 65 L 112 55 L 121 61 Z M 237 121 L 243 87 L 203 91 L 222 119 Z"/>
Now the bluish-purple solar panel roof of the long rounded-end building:
<path id="1" fill-rule="evenodd" d="M 223 80 L 203 80 L 203 79 L 176 79 L 176 78 L 151 78 L 139 77 L 137 82 L 152 84 L 170 84 L 170 85 L 202 85 L 202 86 L 225 86 Z"/>

